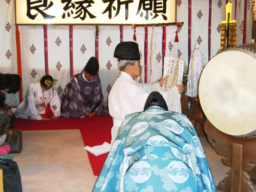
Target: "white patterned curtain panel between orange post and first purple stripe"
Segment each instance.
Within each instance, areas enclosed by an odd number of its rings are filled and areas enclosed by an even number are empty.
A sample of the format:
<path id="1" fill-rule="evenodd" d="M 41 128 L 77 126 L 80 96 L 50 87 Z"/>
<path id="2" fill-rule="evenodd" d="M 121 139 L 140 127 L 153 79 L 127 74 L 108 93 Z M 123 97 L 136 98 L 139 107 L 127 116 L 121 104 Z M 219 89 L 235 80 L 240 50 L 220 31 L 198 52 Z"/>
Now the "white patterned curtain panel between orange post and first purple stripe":
<path id="1" fill-rule="evenodd" d="M 22 98 L 28 85 L 45 75 L 43 26 L 19 26 L 22 63 Z"/>

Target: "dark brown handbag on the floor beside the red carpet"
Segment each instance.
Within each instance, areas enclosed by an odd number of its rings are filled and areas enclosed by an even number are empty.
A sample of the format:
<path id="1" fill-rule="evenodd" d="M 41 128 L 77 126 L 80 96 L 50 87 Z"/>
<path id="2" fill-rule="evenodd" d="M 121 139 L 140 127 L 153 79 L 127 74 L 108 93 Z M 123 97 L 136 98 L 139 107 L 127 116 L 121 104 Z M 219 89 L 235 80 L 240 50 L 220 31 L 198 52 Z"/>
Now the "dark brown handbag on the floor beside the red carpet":
<path id="1" fill-rule="evenodd" d="M 22 151 L 22 132 L 19 129 L 8 129 L 5 132 L 5 142 L 10 145 L 9 153 L 20 153 Z"/>

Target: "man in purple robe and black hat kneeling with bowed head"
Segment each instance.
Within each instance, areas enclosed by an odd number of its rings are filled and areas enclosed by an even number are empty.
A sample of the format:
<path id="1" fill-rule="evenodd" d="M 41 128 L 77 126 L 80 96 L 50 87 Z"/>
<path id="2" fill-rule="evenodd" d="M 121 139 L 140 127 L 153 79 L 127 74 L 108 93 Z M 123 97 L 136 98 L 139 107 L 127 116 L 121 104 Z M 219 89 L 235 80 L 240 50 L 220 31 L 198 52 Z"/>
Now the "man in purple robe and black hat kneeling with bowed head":
<path id="1" fill-rule="evenodd" d="M 102 114 L 103 95 L 100 78 L 97 75 L 99 62 L 91 57 L 83 72 L 76 74 L 66 85 L 62 96 L 61 115 L 64 117 L 82 118 Z"/>

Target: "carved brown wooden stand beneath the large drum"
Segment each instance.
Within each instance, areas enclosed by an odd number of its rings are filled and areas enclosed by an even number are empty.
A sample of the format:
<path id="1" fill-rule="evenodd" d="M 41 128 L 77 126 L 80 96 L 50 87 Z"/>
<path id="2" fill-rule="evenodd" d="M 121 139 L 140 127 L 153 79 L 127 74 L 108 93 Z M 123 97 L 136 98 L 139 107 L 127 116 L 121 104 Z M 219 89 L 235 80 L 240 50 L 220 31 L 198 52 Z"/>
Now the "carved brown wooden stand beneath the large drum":
<path id="1" fill-rule="evenodd" d="M 208 119 L 204 131 L 214 150 L 224 156 L 222 162 L 231 167 L 228 176 L 216 186 L 224 192 L 256 192 L 256 137 L 238 138 L 216 129 Z"/>

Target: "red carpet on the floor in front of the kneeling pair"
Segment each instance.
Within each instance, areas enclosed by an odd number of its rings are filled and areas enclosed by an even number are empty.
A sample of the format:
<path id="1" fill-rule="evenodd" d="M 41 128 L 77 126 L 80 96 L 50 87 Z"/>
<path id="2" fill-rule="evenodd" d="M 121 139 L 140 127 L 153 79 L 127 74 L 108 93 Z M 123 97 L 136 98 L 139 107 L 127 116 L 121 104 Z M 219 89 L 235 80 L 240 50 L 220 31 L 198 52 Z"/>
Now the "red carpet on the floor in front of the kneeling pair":
<path id="1" fill-rule="evenodd" d="M 112 117 L 109 115 L 93 116 L 86 118 L 58 118 L 56 120 L 27 120 L 16 118 L 14 127 L 22 131 L 28 130 L 59 130 L 80 129 L 84 146 L 101 145 L 111 141 Z M 93 174 L 98 176 L 108 154 L 94 156 L 90 152 L 88 157 Z"/>

